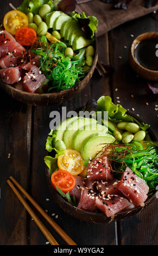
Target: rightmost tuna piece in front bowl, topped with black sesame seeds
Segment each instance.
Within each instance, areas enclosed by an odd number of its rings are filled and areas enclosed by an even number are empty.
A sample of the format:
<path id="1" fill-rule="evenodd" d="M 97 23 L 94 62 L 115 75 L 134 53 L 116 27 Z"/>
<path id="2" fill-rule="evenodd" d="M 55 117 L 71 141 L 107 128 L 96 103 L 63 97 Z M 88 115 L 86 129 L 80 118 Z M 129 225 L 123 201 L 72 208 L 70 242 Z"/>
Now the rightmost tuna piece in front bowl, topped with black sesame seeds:
<path id="1" fill-rule="evenodd" d="M 134 174 L 129 167 L 127 167 L 118 184 L 118 190 L 120 190 L 135 206 L 144 206 L 144 202 L 148 197 L 147 193 L 149 192 L 149 187 L 141 178 Z"/>

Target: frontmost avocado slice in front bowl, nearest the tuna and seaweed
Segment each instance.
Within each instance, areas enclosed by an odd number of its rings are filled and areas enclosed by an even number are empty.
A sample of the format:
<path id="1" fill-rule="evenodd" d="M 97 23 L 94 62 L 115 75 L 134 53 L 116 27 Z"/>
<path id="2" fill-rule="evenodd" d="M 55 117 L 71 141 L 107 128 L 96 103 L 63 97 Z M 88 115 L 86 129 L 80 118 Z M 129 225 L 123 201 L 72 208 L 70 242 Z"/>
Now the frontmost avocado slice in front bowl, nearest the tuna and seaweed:
<path id="1" fill-rule="evenodd" d="M 94 133 L 85 139 L 81 145 L 80 153 L 85 161 L 89 161 L 90 159 L 93 159 L 100 150 L 102 150 L 104 146 L 103 144 L 113 142 L 115 142 L 115 138 L 108 133 L 106 135 L 103 133 Z"/>

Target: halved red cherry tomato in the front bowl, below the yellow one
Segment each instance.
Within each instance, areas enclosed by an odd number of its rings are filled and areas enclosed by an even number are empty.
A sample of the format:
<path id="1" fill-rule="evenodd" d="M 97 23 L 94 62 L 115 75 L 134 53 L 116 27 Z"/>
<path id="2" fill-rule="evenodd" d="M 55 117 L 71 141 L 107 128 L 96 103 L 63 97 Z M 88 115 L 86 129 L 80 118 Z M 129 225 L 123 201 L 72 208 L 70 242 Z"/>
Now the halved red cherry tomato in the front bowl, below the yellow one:
<path id="1" fill-rule="evenodd" d="M 75 178 L 67 170 L 56 170 L 51 176 L 51 181 L 54 187 L 56 185 L 64 193 L 71 191 L 75 186 Z"/>

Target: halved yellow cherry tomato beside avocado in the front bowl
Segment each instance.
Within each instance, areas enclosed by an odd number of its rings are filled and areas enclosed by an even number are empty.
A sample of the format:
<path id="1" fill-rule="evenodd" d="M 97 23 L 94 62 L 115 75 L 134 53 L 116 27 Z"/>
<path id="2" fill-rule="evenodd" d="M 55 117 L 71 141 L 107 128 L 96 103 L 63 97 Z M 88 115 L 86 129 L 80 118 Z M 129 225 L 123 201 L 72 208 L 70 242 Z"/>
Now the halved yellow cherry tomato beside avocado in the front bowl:
<path id="1" fill-rule="evenodd" d="M 67 170 L 72 175 L 78 175 L 83 172 L 85 165 L 78 151 L 66 149 L 65 154 L 58 156 L 58 167 L 61 170 Z"/>

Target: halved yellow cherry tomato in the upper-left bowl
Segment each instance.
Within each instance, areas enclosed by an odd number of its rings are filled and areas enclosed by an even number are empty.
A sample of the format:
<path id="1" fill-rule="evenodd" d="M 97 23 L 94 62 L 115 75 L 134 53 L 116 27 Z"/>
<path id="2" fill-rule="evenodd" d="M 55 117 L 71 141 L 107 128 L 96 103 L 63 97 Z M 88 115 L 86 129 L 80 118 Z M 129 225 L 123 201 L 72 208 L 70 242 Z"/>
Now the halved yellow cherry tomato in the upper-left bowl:
<path id="1" fill-rule="evenodd" d="M 15 35 L 18 28 L 28 27 L 29 21 L 22 11 L 12 10 L 4 16 L 3 26 L 12 35 Z"/>

